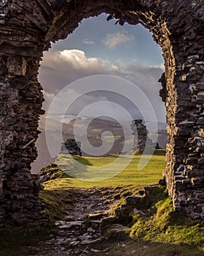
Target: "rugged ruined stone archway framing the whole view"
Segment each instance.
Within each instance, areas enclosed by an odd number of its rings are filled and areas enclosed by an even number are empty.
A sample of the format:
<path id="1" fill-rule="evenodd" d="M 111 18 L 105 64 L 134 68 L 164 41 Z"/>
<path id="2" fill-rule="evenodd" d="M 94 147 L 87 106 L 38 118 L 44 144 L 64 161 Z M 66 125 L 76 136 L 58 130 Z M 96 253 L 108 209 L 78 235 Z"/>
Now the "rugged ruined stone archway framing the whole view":
<path id="1" fill-rule="evenodd" d="M 42 110 L 39 61 L 83 18 L 102 12 L 141 23 L 162 47 L 168 146 L 165 180 L 177 211 L 204 217 L 204 2 L 165 0 L 3 0 L 0 3 L 0 223 L 44 222 L 30 173 Z"/>

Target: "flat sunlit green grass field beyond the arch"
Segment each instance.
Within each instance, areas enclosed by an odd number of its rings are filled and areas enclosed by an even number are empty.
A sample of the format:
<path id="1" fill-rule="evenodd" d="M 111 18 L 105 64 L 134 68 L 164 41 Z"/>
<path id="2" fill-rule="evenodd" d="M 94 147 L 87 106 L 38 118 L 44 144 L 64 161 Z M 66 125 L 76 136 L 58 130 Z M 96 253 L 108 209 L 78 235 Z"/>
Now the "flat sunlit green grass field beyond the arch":
<path id="1" fill-rule="evenodd" d="M 130 156 L 121 156 L 123 163 L 130 161 Z M 148 157 L 148 156 L 144 156 Z M 130 164 L 125 167 L 122 172 L 114 176 L 118 170 L 121 170 L 121 163 L 115 162 L 117 155 L 109 157 L 76 157 L 77 162 L 68 162 L 66 156 L 61 156 L 59 159 L 60 167 L 67 174 L 77 172 L 77 168 L 84 168 L 85 178 L 95 176 L 95 181 L 89 181 L 82 178 L 60 178 L 54 181 L 47 181 L 45 189 L 67 189 L 68 187 L 115 187 L 115 186 L 134 186 L 137 188 L 144 187 L 149 184 L 157 184 L 162 178 L 162 171 L 165 169 L 165 156 L 153 155 L 149 163 L 142 170 L 137 170 L 138 162 L 141 159 L 140 155 L 136 155 L 130 161 Z M 95 167 L 95 168 L 94 168 Z M 106 174 L 104 175 L 104 172 Z M 111 178 L 109 178 L 111 176 Z M 98 177 L 98 178 L 97 178 Z M 98 179 L 102 179 L 98 181 Z"/>

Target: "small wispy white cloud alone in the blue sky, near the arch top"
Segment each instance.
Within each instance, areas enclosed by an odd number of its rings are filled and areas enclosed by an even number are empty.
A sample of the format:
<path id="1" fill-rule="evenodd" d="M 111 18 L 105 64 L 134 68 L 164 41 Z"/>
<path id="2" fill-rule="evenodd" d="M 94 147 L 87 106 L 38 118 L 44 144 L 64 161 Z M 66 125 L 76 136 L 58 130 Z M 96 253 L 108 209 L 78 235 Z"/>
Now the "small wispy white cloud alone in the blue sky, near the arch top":
<path id="1" fill-rule="evenodd" d="M 122 45 L 125 42 L 132 41 L 134 41 L 133 34 L 128 34 L 125 30 L 114 34 L 106 34 L 106 37 L 102 40 L 103 44 L 109 49 L 113 49 L 117 47 L 117 45 Z"/>

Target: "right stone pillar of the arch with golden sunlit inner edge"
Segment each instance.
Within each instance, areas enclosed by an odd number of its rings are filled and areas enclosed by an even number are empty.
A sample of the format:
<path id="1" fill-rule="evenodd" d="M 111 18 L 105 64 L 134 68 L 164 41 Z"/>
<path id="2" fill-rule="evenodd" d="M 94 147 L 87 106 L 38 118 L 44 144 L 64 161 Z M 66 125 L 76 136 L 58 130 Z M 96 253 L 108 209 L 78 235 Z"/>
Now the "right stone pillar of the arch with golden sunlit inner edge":
<path id="1" fill-rule="evenodd" d="M 168 74 L 161 79 L 169 141 L 164 176 L 176 211 L 193 218 L 204 217 L 203 58 L 197 47 L 181 51 L 171 83 Z"/>

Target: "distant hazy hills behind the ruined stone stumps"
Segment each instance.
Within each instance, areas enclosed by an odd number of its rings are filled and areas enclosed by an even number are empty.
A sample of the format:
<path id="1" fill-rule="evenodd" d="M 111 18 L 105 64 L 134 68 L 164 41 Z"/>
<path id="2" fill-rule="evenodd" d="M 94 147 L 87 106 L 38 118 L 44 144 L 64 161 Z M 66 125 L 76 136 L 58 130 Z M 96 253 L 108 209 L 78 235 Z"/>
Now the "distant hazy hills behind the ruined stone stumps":
<path id="1" fill-rule="evenodd" d="M 45 127 L 46 120 L 49 122 L 49 126 Z M 31 165 L 32 172 L 38 173 L 39 170 L 52 162 L 52 157 L 49 150 L 47 149 L 47 142 L 45 138 L 45 128 L 47 135 L 50 138 L 50 151 L 52 156 L 57 155 L 60 152 L 60 143 L 63 142 L 60 138 L 60 127 L 63 131 L 63 140 L 67 138 L 74 138 L 74 132 L 82 145 L 86 140 L 90 145 L 95 148 L 100 147 L 104 142 L 107 149 L 106 154 L 117 154 L 122 151 L 124 146 L 124 141 L 126 138 L 125 145 L 127 148 L 131 149 L 133 146 L 133 135 L 130 129 L 130 124 L 123 122 L 122 124 L 117 123 L 114 119 L 110 118 L 90 118 L 87 116 L 74 116 L 66 115 L 61 116 L 58 114 L 52 114 L 49 116 L 42 116 L 39 121 L 39 130 L 42 132 L 39 135 L 39 139 L 36 141 L 36 147 L 39 151 L 38 159 Z M 87 127 L 87 129 L 85 129 Z M 151 127 L 151 126 L 150 126 Z M 167 133 L 166 133 L 166 124 L 158 123 L 158 138 L 157 142 L 160 147 L 165 148 L 167 143 Z M 109 131 L 114 136 L 114 144 L 112 145 L 111 134 L 104 134 L 104 132 Z M 101 140 L 101 135 L 103 141 Z M 103 136 L 104 135 L 104 136 Z M 151 132 L 149 133 L 151 138 Z M 85 151 L 82 151 L 83 155 L 88 155 Z M 105 154 L 105 155 L 106 155 Z"/>

